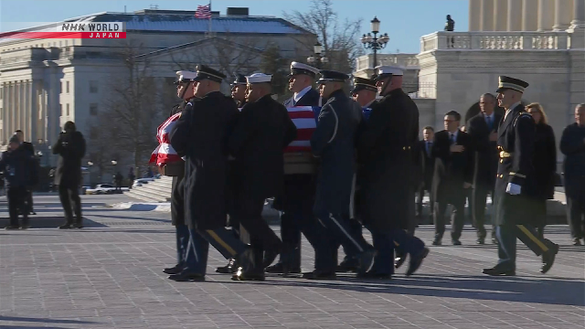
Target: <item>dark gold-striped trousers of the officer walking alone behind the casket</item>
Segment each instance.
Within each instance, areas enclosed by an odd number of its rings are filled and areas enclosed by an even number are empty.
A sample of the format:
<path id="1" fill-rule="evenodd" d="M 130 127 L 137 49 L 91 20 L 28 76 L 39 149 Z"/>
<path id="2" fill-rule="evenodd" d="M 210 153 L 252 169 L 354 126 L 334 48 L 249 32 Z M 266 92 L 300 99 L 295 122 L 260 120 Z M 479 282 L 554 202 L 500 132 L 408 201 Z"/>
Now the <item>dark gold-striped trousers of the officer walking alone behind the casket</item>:
<path id="1" fill-rule="evenodd" d="M 537 256 L 548 252 L 554 245 L 549 239 L 539 238 L 537 230 L 530 225 L 500 225 L 495 231 L 499 241 L 497 267 L 504 270 L 516 270 L 516 238 Z"/>

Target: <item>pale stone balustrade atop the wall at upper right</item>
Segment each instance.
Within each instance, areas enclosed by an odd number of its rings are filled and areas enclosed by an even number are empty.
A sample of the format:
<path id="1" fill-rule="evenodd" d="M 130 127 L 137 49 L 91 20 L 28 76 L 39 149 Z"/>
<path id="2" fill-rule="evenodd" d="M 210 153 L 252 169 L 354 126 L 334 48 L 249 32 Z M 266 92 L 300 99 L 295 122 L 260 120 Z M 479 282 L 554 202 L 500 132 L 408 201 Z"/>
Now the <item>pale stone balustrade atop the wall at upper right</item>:
<path id="1" fill-rule="evenodd" d="M 558 32 L 435 32 L 420 37 L 420 52 L 436 49 L 563 50 L 569 33 Z"/>

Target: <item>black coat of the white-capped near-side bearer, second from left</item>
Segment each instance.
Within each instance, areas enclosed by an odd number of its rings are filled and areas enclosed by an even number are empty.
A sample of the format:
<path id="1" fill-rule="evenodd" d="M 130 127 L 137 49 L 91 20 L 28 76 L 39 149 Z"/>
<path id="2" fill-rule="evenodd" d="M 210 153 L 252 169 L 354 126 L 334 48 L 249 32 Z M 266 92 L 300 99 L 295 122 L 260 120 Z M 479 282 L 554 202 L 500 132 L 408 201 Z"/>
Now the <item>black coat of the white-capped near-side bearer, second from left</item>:
<path id="1" fill-rule="evenodd" d="M 244 105 L 229 137 L 229 153 L 239 168 L 240 196 L 256 200 L 282 193 L 282 151 L 295 138 L 288 111 L 271 95 Z"/>

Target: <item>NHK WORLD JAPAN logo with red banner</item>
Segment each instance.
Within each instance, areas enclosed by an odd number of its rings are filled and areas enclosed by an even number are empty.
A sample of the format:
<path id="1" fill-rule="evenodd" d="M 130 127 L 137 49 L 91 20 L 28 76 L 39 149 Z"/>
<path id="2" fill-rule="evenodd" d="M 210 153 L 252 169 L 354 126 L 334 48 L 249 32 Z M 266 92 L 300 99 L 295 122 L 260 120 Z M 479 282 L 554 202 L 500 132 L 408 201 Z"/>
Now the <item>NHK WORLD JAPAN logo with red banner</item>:
<path id="1" fill-rule="evenodd" d="M 31 23 L 31 26 L 37 28 L 0 33 L 0 39 L 126 38 L 126 24 L 122 22 Z"/>

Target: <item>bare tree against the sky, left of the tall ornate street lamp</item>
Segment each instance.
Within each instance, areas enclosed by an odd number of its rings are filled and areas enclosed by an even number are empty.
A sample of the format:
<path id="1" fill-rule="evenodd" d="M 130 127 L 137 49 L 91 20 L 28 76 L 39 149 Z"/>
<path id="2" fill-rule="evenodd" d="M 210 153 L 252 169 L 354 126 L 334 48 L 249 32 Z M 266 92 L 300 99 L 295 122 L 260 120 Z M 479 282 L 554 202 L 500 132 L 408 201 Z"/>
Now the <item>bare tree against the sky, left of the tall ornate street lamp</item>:
<path id="1" fill-rule="evenodd" d="M 313 0 L 309 11 L 302 13 L 282 13 L 291 23 L 314 33 L 323 44 L 324 53 L 329 58 L 327 67 L 344 72 L 355 69 L 356 58 L 364 54 L 359 43 L 362 19 L 340 21 L 333 8 L 332 0 Z M 313 44 L 307 39 L 298 40 L 305 51 L 313 52 Z"/>

